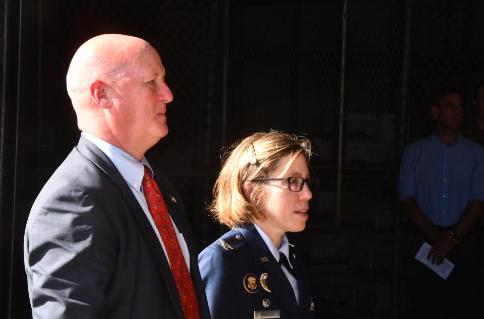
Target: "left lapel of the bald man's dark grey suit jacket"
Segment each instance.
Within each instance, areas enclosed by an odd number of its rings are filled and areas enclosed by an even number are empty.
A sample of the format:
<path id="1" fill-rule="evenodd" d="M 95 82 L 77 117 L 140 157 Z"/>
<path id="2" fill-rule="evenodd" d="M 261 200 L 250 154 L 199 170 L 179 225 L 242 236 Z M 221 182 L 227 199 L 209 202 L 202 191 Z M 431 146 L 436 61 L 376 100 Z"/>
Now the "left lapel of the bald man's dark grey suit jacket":
<path id="1" fill-rule="evenodd" d="M 150 246 L 155 260 L 158 264 L 160 272 L 163 276 L 165 281 L 166 287 L 168 289 L 173 307 L 178 314 L 178 317 L 185 318 L 185 314 L 183 313 L 183 308 L 181 307 L 180 297 L 178 295 L 178 290 L 176 289 L 176 284 L 173 279 L 173 274 L 171 272 L 170 266 L 168 261 L 166 260 L 165 253 L 163 248 L 160 245 L 158 237 L 156 236 L 155 232 L 153 231 L 153 227 L 151 226 L 150 222 L 146 218 L 146 215 L 143 209 L 140 207 L 140 204 L 136 200 L 135 196 L 133 195 L 130 186 L 125 181 L 123 176 L 119 173 L 116 167 L 112 164 L 109 158 L 99 149 L 97 148 L 91 141 L 86 139 L 85 137 L 81 136 L 79 140 L 79 144 L 77 146 L 78 151 L 86 156 L 91 162 L 93 162 L 101 171 L 103 171 L 120 189 L 125 197 L 126 201 L 128 202 L 129 207 L 133 215 L 138 222 L 143 235 L 145 236 L 148 245 Z M 166 198 L 165 202 L 166 202 Z M 171 201 L 171 200 L 170 200 Z M 177 224 L 178 227 L 178 224 Z"/>

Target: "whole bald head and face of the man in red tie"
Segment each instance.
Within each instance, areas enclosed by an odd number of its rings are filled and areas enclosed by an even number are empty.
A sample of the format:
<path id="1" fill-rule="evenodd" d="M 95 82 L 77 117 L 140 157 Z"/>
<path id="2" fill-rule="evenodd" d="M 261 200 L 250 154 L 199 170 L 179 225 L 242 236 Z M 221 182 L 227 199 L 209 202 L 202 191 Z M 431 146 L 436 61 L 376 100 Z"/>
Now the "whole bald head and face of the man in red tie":
<path id="1" fill-rule="evenodd" d="M 158 52 L 145 40 L 103 34 L 81 45 L 67 73 L 81 131 L 141 160 L 168 133 L 165 83 Z"/>

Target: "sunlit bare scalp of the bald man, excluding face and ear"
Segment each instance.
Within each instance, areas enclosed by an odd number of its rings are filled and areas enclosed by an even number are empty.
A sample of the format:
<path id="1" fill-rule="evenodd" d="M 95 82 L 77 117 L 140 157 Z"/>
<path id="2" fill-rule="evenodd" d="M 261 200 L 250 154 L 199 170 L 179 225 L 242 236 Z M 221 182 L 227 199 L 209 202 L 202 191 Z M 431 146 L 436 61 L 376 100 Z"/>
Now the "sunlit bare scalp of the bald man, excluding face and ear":
<path id="1" fill-rule="evenodd" d="M 90 86 L 95 81 L 113 85 L 124 68 L 151 45 L 143 39 L 123 34 L 102 34 L 83 43 L 74 54 L 67 73 L 67 91 L 85 130 L 92 122 L 93 101 Z"/>

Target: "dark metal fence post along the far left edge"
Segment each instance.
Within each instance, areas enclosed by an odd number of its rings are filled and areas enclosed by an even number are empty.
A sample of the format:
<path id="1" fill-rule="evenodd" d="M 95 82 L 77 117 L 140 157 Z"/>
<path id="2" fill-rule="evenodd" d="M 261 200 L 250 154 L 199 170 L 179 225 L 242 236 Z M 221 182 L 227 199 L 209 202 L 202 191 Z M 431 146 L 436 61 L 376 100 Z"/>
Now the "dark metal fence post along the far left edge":
<path id="1" fill-rule="evenodd" d="M 0 296 L 5 300 L 0 316 L 11 317 L 14 251 L 15 179 L 18 138 L 18 82 L 22 2 L 5 2 L 2 58 L 2 126 L 0 133 Z"/>

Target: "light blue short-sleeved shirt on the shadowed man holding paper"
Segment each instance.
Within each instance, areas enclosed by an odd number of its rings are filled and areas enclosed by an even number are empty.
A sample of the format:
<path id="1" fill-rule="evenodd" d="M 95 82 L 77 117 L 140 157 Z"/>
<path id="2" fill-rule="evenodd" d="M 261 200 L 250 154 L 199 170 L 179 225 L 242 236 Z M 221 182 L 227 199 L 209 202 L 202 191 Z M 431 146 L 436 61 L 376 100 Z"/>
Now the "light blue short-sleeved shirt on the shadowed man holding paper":
<path id="1" fill-rule="evenodd" d="M 399 198 L 411 196 L 434 225 L 454 225 L 472 201 L 484 201 L 484 148 L 460 134 L 446 145 L 435 132 L 409 145 Z"/>

